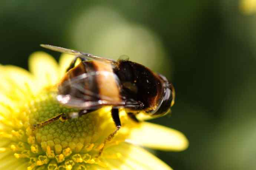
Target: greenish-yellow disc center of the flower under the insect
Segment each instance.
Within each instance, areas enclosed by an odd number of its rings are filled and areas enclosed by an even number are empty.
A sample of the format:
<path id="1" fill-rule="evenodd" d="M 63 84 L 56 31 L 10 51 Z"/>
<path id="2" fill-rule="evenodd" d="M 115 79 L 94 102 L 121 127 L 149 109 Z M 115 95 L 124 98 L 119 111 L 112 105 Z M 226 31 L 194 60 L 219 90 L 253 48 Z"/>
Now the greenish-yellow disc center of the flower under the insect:
<path id="1" fill-rule="evenodd" d="M 60 105 L 56 100 L 56 92 L 45 89 L 17 110 L 15 128 L 11 130 L 11 135 L 5 135 L 12 141 L 10 148 L 14 156 L 29 162 L 28 170 L 81 170 L 90 164 L 106 166 L 102 161 L 105 153 L 99 158 L 98 153 L 104 147 L 105 138 L 115 130 L 110 109 L 105 107 L 65 122 L 56 120 L 32 130 L 32 125 L 39 122 L 61 113 L 78 111 Z M 127 118 L 122 115 L 121 120 L 125 122 Z M 123 128 L 119 133 L 105 148 L 124 141 L 128 130 Z"/>

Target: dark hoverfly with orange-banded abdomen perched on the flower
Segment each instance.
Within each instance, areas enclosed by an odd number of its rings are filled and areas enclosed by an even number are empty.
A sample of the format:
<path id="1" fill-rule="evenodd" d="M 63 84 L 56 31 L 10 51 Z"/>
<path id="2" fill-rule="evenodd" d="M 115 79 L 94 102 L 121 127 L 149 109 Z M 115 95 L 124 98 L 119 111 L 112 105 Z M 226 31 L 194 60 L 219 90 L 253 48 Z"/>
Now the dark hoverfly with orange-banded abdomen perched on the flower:
<path id="1" fill-rule="evenodd" d="M 78 118 L 103 106 L 112 106 L 111 115 L 116 130 L 105 139 L 105 144 L 121 128 L 120 108 L 125 109 L 129 118 L 139 122 L 136 118 L 139 112 L 150 116 L 163 116 L 174 104 L 173 85 L 165 76 L 154 73 L 141 64 L 129 61 L 127 58 L 114 61 L 53 45 L 41 46 L 74 55 L 65 76 L 58 85 L 57 100 L 64 106 L 77 108 L 80 111 L 61 113 L 34 125 L 33 128 L 42 127 L 59 119 Z M 75 66 L 77 59 L 81 59 L 81 62 Z"/>

